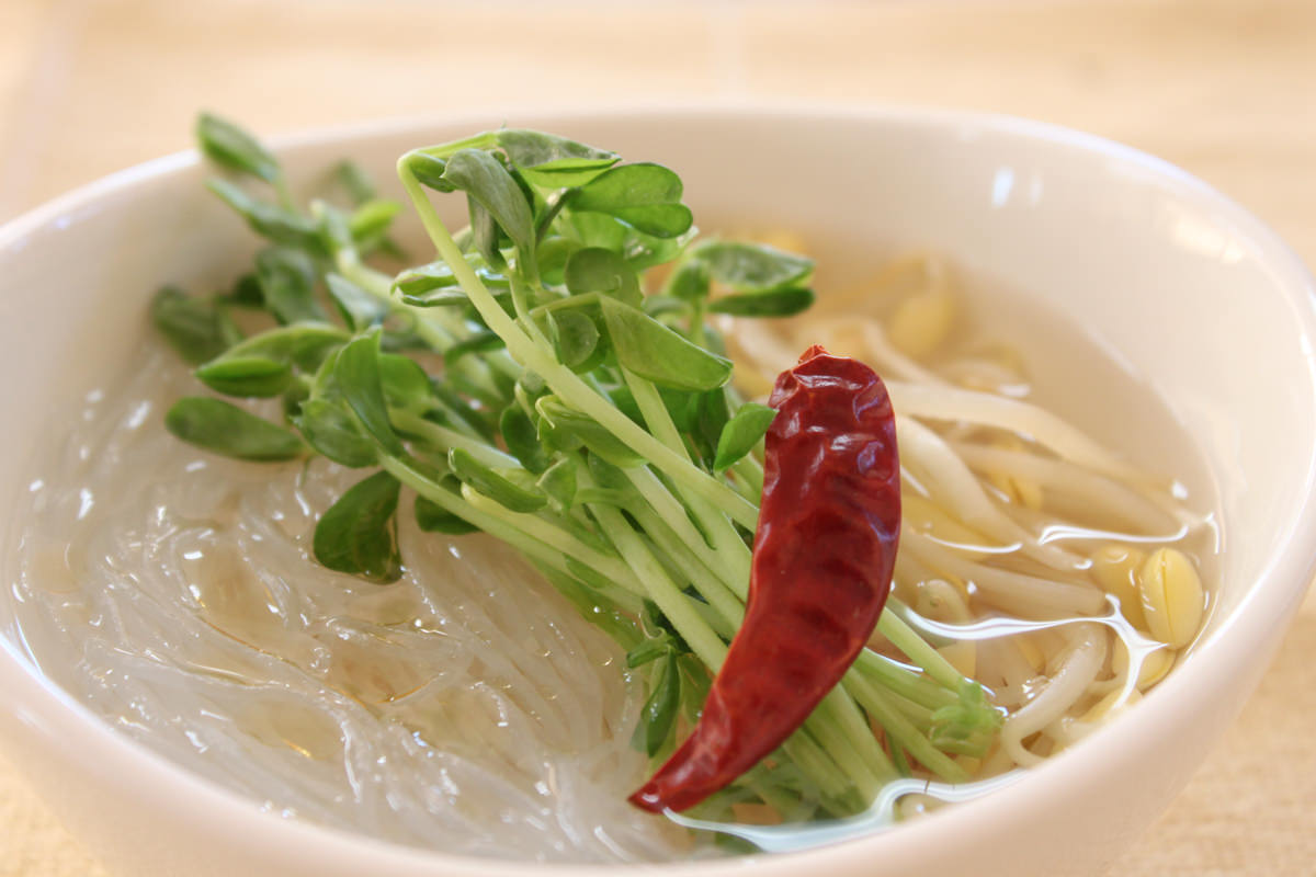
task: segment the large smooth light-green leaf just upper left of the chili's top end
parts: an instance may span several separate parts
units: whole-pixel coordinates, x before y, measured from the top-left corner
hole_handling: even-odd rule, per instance
[[[646,314],[612,298],[599,302],[608,339],[625,368],[674,389],[715,389],[732,376],[729,359],[692,344]]]

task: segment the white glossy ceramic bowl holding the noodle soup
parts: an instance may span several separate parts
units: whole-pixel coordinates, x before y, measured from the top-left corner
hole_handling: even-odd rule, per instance
[[[180,120],[186,124],[187,120]],[[295,184],[350,154],[399,154],[504,121],[671,164],[704,225],[755,218],[949,254],[1046,297],[1144,376],[1200,444],[1219,492],[1223,582],[1207,636],[1150,697],[994,795],[895,831],[765,856],[758,877],[1087,874],[1165,807],[1265,671],[1316,557],[1313,283],[1245,210],[1182,171],[1012,118],[888,109],[490,114],[288,141]],[[0,229],[0,496],[16,497],[57,402],[113,373],[162,281],[229,276],[253,243],[192,153],[124,171]],[[869,256],[871,254],[863,254]],[[22,521],[0,508],[9,552]],[[0,630],[12,607],[0,600]],[[112,870],[390,877],[544,874],[288,822],[116,734],[0,638],[0,739]],[[745,860],[658,868],[742,873]],[[571,873],[584,870],[570,868]],[[608,873],[616,870],[608,869]],[[603,873],[603,872],[600,872]]]

